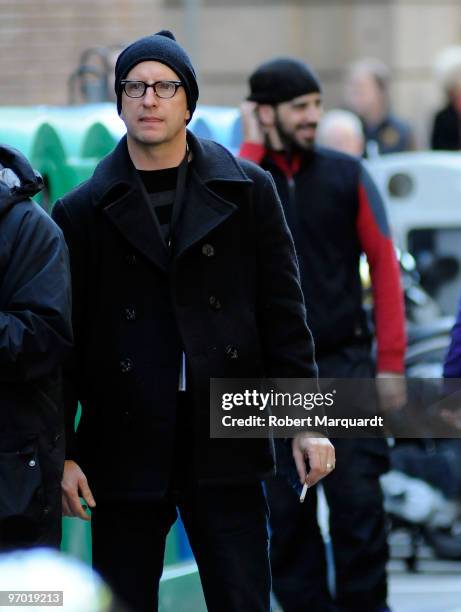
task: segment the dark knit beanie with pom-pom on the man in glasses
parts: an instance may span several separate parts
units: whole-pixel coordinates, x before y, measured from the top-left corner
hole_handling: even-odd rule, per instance
[[[137,64],[152,60],[165,64],[176,72],[184,86],[187,106],[192,117],[199,93],[197,77],[189,56],[178,45],[174,35],[169,30],[161,30],[151,36],[135,40],[118,56],[117,63],[115,64],[115,93],[117,95],[118,114],[120,115],[122,111],[122,88],[120,81]]]

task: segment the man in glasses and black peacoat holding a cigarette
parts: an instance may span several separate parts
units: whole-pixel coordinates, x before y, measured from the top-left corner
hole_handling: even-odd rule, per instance
[[[165,537],[185,524],[211,611],[267,611],[267,439],[210,438],[211,378],[314,377],[294,245],[269,175],[186,131],[195,72],[171,32],[115,68],[127,135],[53,217],[71,256],[64,511],[93,508],[93,564],[153,610]],[[82,417],[76,433],[77,400]],[[334,467],[300,434],[301,481]]]

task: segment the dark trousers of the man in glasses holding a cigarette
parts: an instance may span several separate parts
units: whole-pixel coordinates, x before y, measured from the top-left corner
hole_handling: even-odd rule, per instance
[[[93,566],[133,612],[158,608],[165,538],[178,508],[210,612],[270,609],[267,504],[261,483],[172,490],[152,503],[93,511]]]

